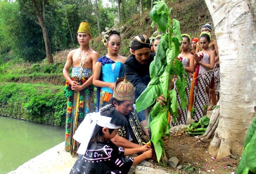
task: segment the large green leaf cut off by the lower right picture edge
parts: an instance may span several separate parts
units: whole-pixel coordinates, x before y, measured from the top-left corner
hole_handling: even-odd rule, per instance
[[[247,146],[246,166],[250,171],[256,173],[256,131]]]

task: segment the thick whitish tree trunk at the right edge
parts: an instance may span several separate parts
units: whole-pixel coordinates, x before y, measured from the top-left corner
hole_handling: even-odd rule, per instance
[[[220,55],[220,116],[209,152],[217,158],[241,155],[247,129],[256,115],[256,2],[205,2]]]

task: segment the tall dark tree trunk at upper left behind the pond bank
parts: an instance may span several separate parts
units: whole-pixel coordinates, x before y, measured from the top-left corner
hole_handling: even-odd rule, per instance
[[[33,2],[33,5],[34,5],[34,11],[35,11],[36,17],[38,19],[39,25],[41,26],[42,31],[43,31],[47,62],[53,63],[50,39],[49,39],[49,36],[48,36],[48,31],[47,31],[46,24],[45,24],[45,0],[40,0],[39,6],[36,3],[36,0],[32,0],[32,2]]]

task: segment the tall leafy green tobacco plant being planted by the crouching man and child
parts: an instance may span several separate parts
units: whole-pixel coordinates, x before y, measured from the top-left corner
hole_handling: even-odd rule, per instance
[[[162,31],[164,34],[161,35],[156,56],[149,67],[151,81],[136,100],[136,108],[139,112],[154,104],[149,113],[148,124],[151,142],[154,145],[157,161],[160,162],[162,154],[166,160],[162,137],[170,137],[168,113],[175,122],[178,116],[177,93],[175,89],[169,89],[169,85],[176,77],[175,86],[181,99],[181,109],[185,109],[187,105],[185,88],[188,82],[183,65],[175,59],[180,53],[180,42],[182,42],[180,23],[176,19],[170,19],[172,8],[168,8],[164,2],[158,1],[154,4],[149,13],[153,21],[151,26],[158,24],[159,30],[156,32]],[[156,103],[157,97],[162,94],[165,97],[165,105]]]

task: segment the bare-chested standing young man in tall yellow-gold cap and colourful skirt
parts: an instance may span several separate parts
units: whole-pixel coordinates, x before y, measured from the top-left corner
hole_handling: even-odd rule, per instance
[[[87,22],[81,22],[77,32],[80,47],[70,51],[63,68],[63,76],[66,79],[65,96],[68,98],[65,150],[71,155],[76,154],[79,145],[73,139],[73,134],[84,120],[85,115],[93,112],[94,107],[92,73],[99,55],[89,46],[91,38],[90,25]],[[68,70],[72,65],[70,77]]]

